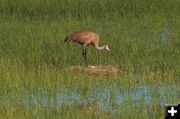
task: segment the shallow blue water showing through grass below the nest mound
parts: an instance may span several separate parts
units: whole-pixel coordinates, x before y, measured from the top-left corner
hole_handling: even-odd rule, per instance
[[[30,93],[24,91],[21,97],[1,96],[1,105],[16,105],[33,108],[40,105],[44,108],[63,106],[95,105],[102,111],[122,111],[121,105],[131,105],[134,108],[142,104],[152,103],[167,104],[169,101],[178,100],[176,85],[154,87],[148,85],[135,85],[129,89],[112,87],[108,84],[96,84],[91,88],[72,87],[57,92],[48,93],[36,91]],[[131,104],[129,104],[131,103]]]

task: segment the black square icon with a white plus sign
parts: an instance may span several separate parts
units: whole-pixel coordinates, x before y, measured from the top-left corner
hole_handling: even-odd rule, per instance
[[[165,107],[165,119],[180,119],[180,104],[178,105],[166,105]]]

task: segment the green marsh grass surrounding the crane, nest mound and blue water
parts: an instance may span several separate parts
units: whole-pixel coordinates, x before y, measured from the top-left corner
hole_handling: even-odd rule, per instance
[[[153,89],[169,84],[180,91],[179,26],[179,0],[1,0],[0,118],[164,118],[164,104],[180,102],[179,95],[159,104],[158,91]],[[112,46],[111,52],[89,47],[90,64],[118,66],[118,75],[65,70],[84,65],[81,46],[63,43],[70,31],[82,29],[97,32],[100,44]],[[92,109],[87,105],[27,108],[23,104],[3,104],[4,97],[15,97],[20,103],[23,91],[54,95],[79,86],[85,95],[94,84],[104,82],[112,90],[120,87],[130,92],[137,84],[148,84],[153,101],[139,105],[150,105],[153,111],[128,112],[128,107],[135,105],[131,100],[114,106],[122,107],[125,113],[99,111],[93,104]]]

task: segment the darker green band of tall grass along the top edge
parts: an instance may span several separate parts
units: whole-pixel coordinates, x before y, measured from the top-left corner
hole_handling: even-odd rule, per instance
[[[28,17],[50,16],[84,18],[178,14],[178,0],[1,0],[2,14]],[[172,14],[173,13],[173,14]],[[139,16],[140,15],[140,16]],[[118,17],[117,17],[118,16]]]

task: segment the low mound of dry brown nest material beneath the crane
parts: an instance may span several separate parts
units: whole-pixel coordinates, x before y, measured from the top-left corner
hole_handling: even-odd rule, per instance
[[[86,72],[90,74],[117,74],[119,68],[112,65],[96,65],[96,66],[70,66],[68,70],[73,72]]]

